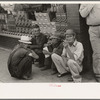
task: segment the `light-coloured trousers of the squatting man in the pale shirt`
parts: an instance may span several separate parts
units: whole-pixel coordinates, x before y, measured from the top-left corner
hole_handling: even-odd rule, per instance
[[[82,78],[80,76],[80,72],[82,71],[82,66],[80,66],[76,61],[69,59],[67,61],[67,65],[65,65],[65,62],[63,61],[62,57],[57,54],[52,54],[52,60],[54,64],[56,65],[56,68],[60,74],[71,72],[72,78],[74,82],[81,82]]]

